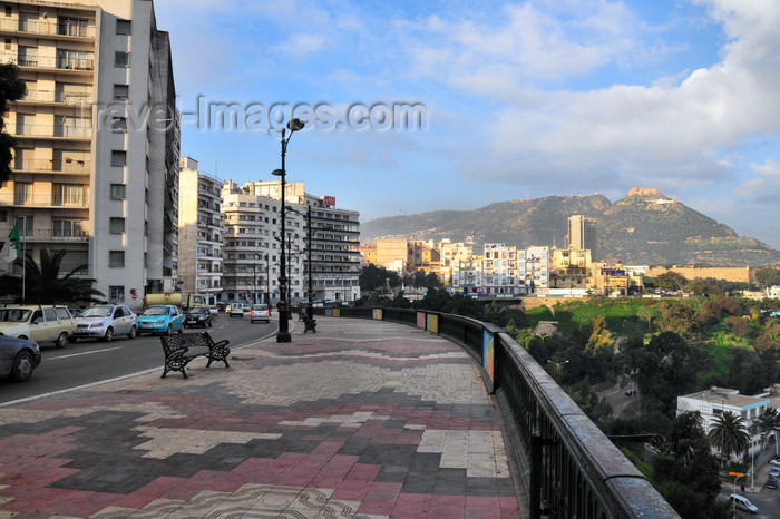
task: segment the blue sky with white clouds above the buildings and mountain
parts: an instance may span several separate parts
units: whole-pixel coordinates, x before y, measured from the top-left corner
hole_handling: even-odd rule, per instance
[[[182,155],[220,179],[277,178],[279,130],[298,117],[287,182],[361,222],[653,187],[780,248],[777,0],[155,10],[170,33]]]

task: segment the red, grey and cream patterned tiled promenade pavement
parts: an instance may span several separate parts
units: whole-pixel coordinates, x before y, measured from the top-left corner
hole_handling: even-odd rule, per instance
[[[0,518],[519,518],[474,361],[410,326],[318,317],[191,363],[0,408]],[[218,337],[217,337],[218,339]]]

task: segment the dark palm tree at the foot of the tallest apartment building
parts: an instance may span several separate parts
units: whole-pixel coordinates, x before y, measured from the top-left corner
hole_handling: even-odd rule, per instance
[[[25,268],[25,302],[33,304],[72,303],[75,301],[97,301],[94,296],[104,295],[92,288],[95,280],[79,277],[78,273],[85,271],[87,265],[79,265],[68,273],[60,273],[62,258],[67,251],[58,251],[49,254],[42,248],[40,264],[36,263],[31,253],[27,253],[22,262],[17,257],[16,265]],[[19,276],[4,276],[0,284],[7,293],[21,296],[21,278]]]

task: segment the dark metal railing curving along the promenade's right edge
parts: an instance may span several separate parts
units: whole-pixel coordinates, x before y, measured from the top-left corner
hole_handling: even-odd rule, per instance
[[[464,347],[503,411],[507,454],[532,518],[680,517],[552,376],[504,330],[460,315],[404,309],[319,314],[418,326]]]

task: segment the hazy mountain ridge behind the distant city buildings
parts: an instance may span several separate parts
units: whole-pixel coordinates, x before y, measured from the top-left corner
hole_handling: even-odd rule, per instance
[[[754,238],[741,237],[675,198],[655,189],[631,189],[610,202],[603,195],[546,196],[496,202],[475,210],[437,210],[390,216],[361,225],[361,242],[378,237],[471,239],[475,252],[485,243],[527,247],[564,247],[568,217],[596,219],[597,256],[625,264],[772,265],[780,252]]]

